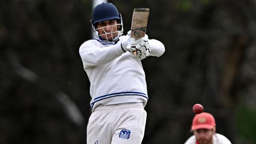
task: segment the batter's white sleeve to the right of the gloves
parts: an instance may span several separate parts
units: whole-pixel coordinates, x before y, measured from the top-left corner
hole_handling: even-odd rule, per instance
[[[162,42],[155,39],[148,39],[148,44],[150,46],[151,56],[160,57],[165,52],[165,46]]]

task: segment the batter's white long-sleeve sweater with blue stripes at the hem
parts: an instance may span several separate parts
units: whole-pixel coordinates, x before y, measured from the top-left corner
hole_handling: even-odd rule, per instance
[[[147,104],[147,84],[141,61],[135,61],[129,52],[121,49],[118,42],[100,42],[97,39],[84,42],[79,49],[83,68],[87,73],[91,102],[94,111],[99,104],[143,102]],[[160,57],[165,52],[164,45],[155,39],[148,39],[150,55]]]

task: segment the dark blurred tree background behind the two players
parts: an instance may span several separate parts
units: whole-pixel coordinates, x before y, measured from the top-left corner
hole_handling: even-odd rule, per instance
[[[213,114],[233,144],[256,143],[255,0],[109,0],[130,29],[165,53],[142,61],[148,84],[143,144],[182,144],[192,107]],[[85,144],[89,80],[78,49],[91,39],[90,0],[0,1],[0,144]]]

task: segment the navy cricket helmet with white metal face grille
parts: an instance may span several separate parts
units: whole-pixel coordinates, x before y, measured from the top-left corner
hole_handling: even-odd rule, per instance
[[[108,39],[107,35],[110,33],[106,33],[106,31],[104,30],[104,28],[106,28],[106,27],[102,28],[104,31],[104,34],[102,34],[102,35],[99,35],[99,33],[98,33],[98,30],[100,28],[96,28],[96,26],[99,22],[104,22],[107,20],[117,20],[117,23],[118,23],[113,26],[108,26],[111,28],[112,39]],[[91,25],[92,25],[92,28],[93,28],[96,38],[102,42],[106,42],[106,41],[107,42],[115,42],[115,41],[119,40],[119,37],[122,35],[122,32],[123,32],[122,16],[121,16],[121,14],[119,14],[117,8],[111,3],[102,3],[102,4],[97,5],[93,9]],[[117,26],[117,31],[113,31],[114,26]],[[115,35],[115,33],[117,33],[117,35],[113,36],[113,34]],[[103,35],[106,35],[106,39],[102,38]]]

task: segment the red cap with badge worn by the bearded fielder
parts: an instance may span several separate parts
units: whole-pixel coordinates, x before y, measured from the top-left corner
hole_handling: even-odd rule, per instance
[[[191,130],[212,129],[215,126],[215,119],[210,113],[200,113],[194,116]]]

